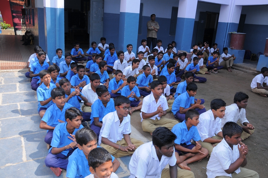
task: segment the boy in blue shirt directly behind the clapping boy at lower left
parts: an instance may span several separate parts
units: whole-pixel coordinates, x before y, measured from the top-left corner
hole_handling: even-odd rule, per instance
[[[62,88],[53,88],[51,91],[51,98],[54,104],[47,108],[42,120],[40,121],[39,128],[47,130],[45,142],[50,145],[53,131],[55,127],[62,122],[65,122],[65,111],[72,107],[66,103],[65,92]]]

